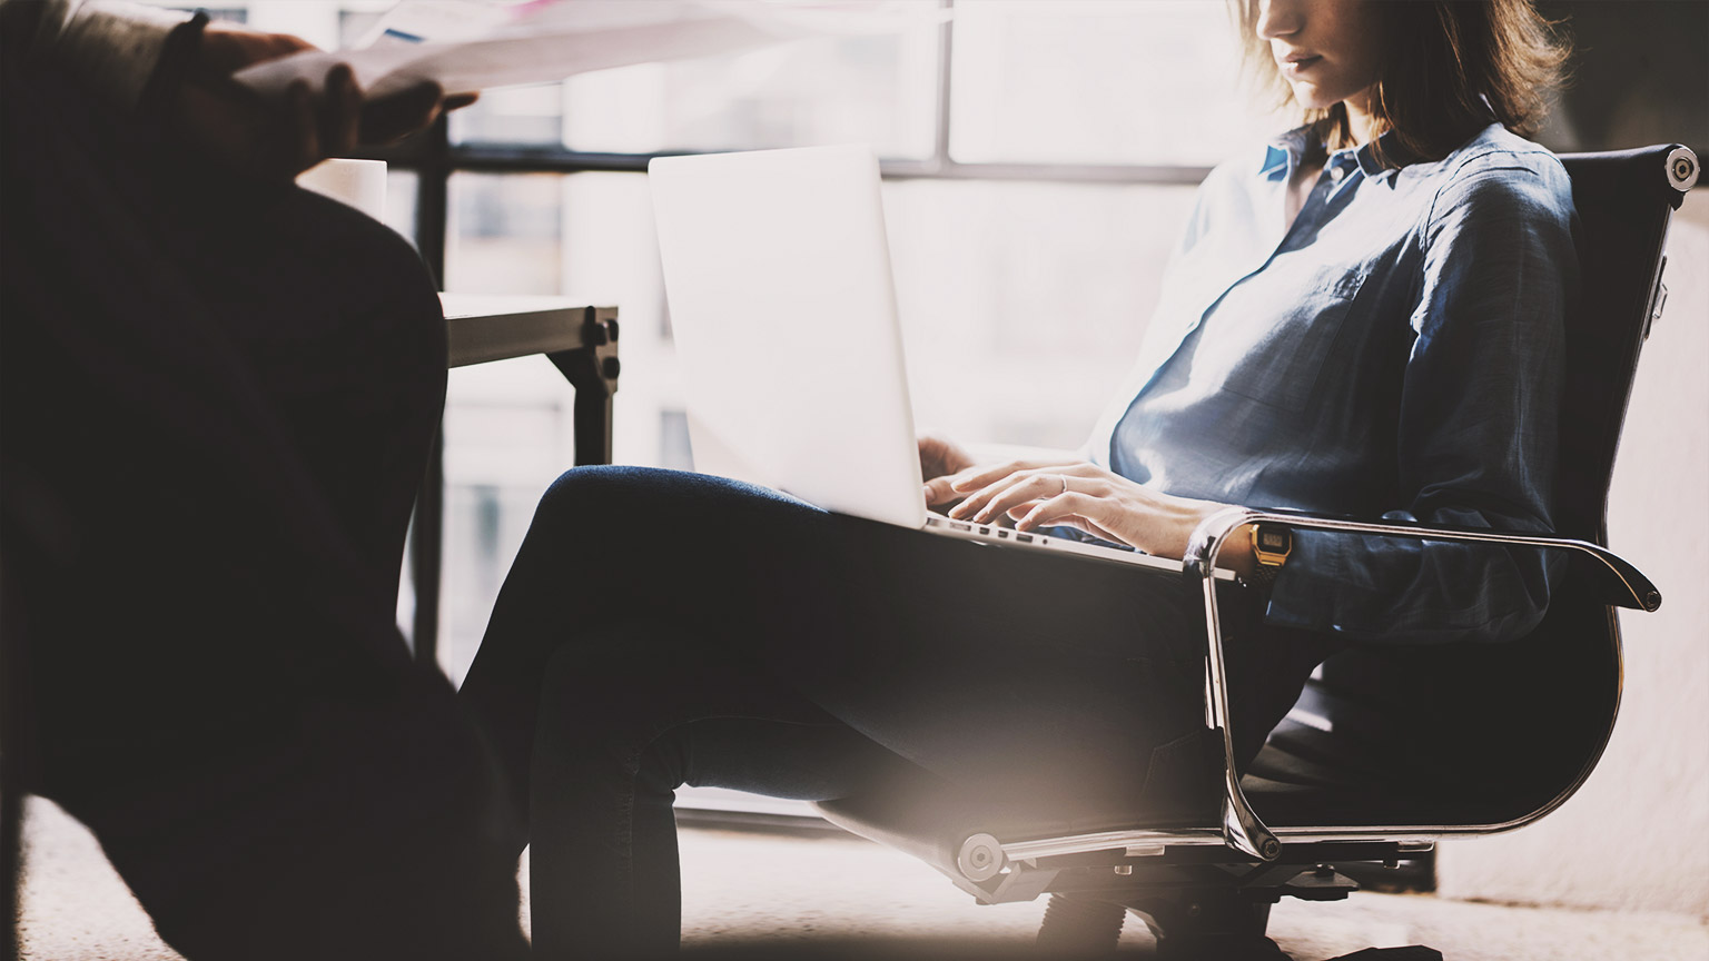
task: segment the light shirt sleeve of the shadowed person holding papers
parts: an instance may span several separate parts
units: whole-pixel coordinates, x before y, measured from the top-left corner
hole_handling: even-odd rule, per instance
[[[96,96],[135,109],[166,36],[186,19],[116,0],[50,0],[32,50],[70,67]]]

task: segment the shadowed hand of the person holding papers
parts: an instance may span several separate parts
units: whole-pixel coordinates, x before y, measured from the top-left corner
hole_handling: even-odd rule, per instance
[[[299,80],[287,87],[282,104],[263,101],[231,79],[244,67],[304,50],[314,46],[289,34],[208,24],[167,108],[173,127],[227,166],[265,180],[289,180],[359,144],[400,140],[443,111],[475,103],[475,94],[446,97],[432,82],[367,101],[342,63],[326,72],[318,96]]]

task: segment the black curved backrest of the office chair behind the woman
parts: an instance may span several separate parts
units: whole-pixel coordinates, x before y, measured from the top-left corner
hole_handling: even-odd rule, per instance
[[[1606,545],[1608,484],[1656,308],[1668,221],[1697,161],[1677,145],[1562,161],[1579,217],[1583,292],[1567,316],[1557,530]],[[1521,641],[1360,646],[1333,657],[1295,708],[1304,716],[1283,722],[1266,752],[1297,756],[1309,739],[1321,754],[1324,739],[1307,722],[1328,718],[1347,732],[1340,747],[1350,763],[1389,759],[1381,778],[1396,790],[1374,795],[1386,800],[1362,807],[1360,824],[1509,824],[1577,788],[1601,756],[1618,703],[1618,622],[1591,592],[1569,587],[1553,592],[1543,622]],[[1383,744],[1371,740],[1372,730]]]

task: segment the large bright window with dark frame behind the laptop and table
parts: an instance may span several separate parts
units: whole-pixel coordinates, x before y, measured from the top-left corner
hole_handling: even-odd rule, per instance
[[[234,3],[251,26],[323,46],[361,36],[386,5]],[[1266,125],[1237,87],[1222,3],[954,10],[950,27],[913,34],[489,91],[443,140],[391,157],[390,221],[446,289],[617,304],[615,458],[689,467],[648,159],[868,142],[887,176],[918,419],[1077,446],[1138,347],[1193,188]],[[533,504],[571,463],[573,400],[538,357],[451,373],[438,657],[455,681]]]

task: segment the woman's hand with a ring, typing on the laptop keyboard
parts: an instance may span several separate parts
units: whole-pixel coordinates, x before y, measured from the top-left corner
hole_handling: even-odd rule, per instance
[[[1010,465],[957,477],[962,503],[950,510],[957,520],[990,523],[1007,513],[1015,530],[1070,525],[1104,540],[1128,544],[1157,554],[1186,554],[1193,530],[1210,515],[1227,508],[1160,494],[1095,463],[1068,463],[1012,470]],[[1236,549],[1244,539],[1230,539]],[[1236,566],[1224,549],[1219,566]]]

